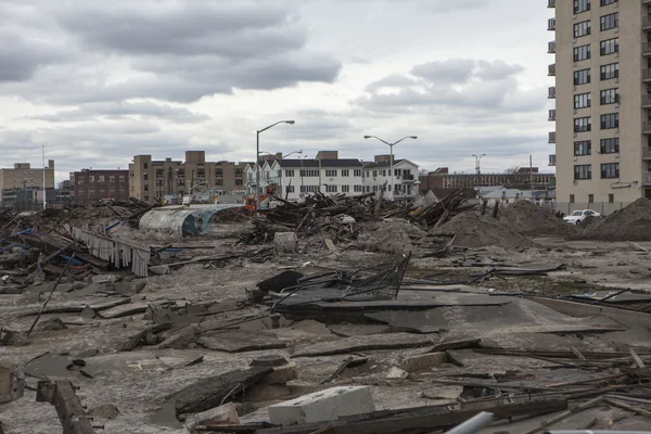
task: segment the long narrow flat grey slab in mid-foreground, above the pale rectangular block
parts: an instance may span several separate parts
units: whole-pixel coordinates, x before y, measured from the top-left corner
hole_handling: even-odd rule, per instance
[[[370,336],[347,337],[339,341],[299,346],[292,357],[330,356],[373,349],[418,348],[429,345],[432,345],[432,340],[419,334],[373,334]]]

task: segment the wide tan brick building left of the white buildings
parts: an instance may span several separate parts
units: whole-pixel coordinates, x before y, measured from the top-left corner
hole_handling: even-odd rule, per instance
[[[206,162],[205,151],[186,151],[186,162],[136,155],[129,164],[130,195],[153,202],[203,190],[244,190],[246,163]]]

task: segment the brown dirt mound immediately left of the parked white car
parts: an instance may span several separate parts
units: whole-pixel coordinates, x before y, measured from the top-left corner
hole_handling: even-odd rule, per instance
[[[500,220],[527,237],[566,237],[578,232],[574,226],[567,225],[562,218],[529,201],[518,201],[503,208]]]

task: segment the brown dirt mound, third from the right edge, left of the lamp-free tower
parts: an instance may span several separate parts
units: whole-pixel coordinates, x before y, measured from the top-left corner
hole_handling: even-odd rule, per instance
[[[496,245],[503,248],[520,248],[531,244],[526,237],[515,232],[509,224],[477,213],[462,213],[435,231],[438,234],[455,234],[455,245],[485,247]]]

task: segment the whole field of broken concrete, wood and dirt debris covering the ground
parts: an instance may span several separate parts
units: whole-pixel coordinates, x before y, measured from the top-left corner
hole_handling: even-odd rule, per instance
[[[317,194],[187,237],[138,201],[2,213],[2,431],[648,430],[651,202],[584,228],[468,200]]]

